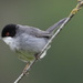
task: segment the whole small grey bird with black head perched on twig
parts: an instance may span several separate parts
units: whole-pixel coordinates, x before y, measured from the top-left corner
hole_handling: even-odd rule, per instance
[[[51,39],[55,29],[61,25],[65,19],[60,20],[45,31],[30,25],[10,23],[3,27],[1,40],[6,42],[13,52],[18,53],[17,55],[21,61],[27,63],[32,62]],[[46,52],[44,55],[45,54]],[[44,58],[44,55],[40,59]]]

